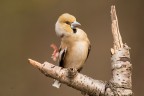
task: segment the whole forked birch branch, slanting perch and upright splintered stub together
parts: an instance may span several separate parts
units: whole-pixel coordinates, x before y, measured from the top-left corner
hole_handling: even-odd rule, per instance
[[[122,42],[115,6],[111,6],[111,20],[114,45],[111,48],[112,78],[110,81],[94,80],[78,72],[70,78],[69,73],[73,73],[73,70],[55,66],[48,62],[41,64],[29,59],[30,64],[38,68],[44,75],[57,79],[61,83],[90,96],[132,96],[130,48]]]

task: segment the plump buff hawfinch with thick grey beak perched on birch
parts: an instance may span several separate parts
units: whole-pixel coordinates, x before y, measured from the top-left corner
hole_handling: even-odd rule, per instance
[[[64,13],[55,24],[55,32],[61,39],[58,62],[63,68],[74,68],[80,72],[89,56],[91,44],[87,34],[80,29],[81,24],[76,18]],[[53,85],[60,88],[61,83],[55,80]]]

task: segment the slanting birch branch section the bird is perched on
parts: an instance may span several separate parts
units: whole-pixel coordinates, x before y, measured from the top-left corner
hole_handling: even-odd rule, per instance
[[[104,94],[106,83],[100,80],[94,80],[86,75],[77,73],[73,78],[69,78],[69,70],[59,66],[55,66],[48,62],[43,64],[29,59],[30,64],[38,68],[43,74],[48,77],[59,80],[61,83],[67,84],[81,92],[87,93],[91,96],[99,96]]]

